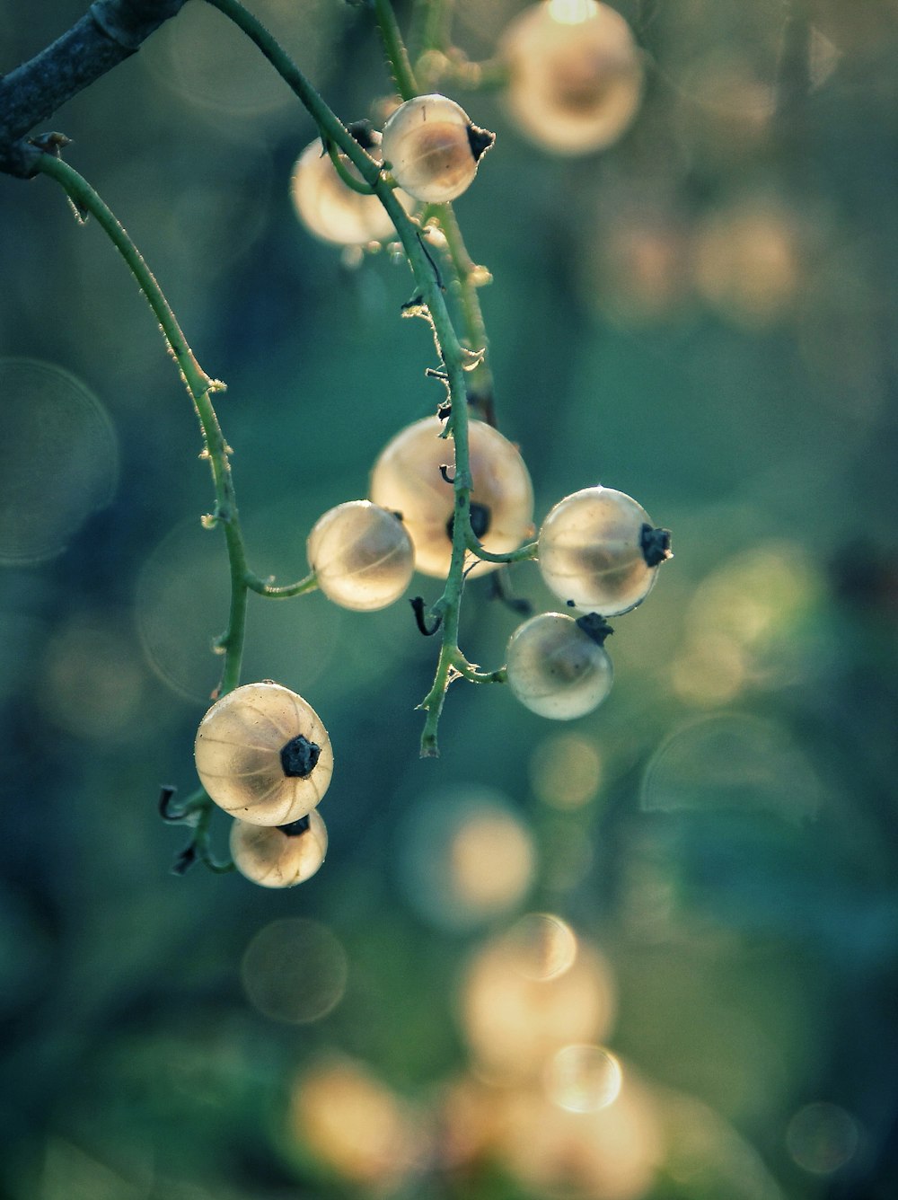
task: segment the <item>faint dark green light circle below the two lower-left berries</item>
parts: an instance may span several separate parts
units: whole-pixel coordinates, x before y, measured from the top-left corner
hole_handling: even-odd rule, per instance
[[[240,965],[249,1002],[265,1016],[291,1025],[318,1021],[346,988],[346,954],[326,925],[285,918],[253,937]]]

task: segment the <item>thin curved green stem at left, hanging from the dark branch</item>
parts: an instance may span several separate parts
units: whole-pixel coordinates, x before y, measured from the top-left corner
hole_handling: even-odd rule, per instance
[[[240,529],[237,502],[231,481],[228,461],[228,444],[224,440],[218,416],[212,404],[212,392],[222,391],[223,384],[206,374],[197,361],[193,350],[177,324],[171,306],[156,281],[125,227],[115,217],[106,202],[97,194],[78,172],[61,158],[44,154],[38,163],[42,174],[54,179],[66,192],[78,212],[94,216],[125,259],[138,287],[156,314],[162,335],[181,371],[181,377],[193,401],[193,406],[203,431],[204,454],[209,458],[215,484],[215,511],[209,524],[221,523],[224,528],[224,540],[228,547],[230,565],[230,608],[228,628],[217,640],[217,648],[224,654],[219,692],[224,695],[240,683],[240,665],[243,655],[243,636],[246,629],[246,551]]]

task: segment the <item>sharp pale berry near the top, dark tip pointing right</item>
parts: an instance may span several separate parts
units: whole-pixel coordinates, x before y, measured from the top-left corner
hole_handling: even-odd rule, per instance
[[[470,187],[494,138],[446,96],[406,100],[384,126],[384,162],[409,196],[428,204],[454,200]]]

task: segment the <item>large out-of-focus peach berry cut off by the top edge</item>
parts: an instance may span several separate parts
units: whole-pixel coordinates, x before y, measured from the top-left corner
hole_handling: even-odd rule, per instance
[[[506,100],[522,132],[544,150],[602,150],[639,108],[643,66],[626,20],[596,0],[546,0],[502,35]]]

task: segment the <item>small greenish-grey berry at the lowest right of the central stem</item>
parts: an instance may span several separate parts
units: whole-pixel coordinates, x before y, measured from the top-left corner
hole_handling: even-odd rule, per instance
[[[591,713],[613,678],[607,652],[565,613],[531,617],[508,642],[508,686],[540,716],[569,721]]]

